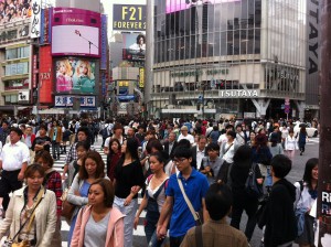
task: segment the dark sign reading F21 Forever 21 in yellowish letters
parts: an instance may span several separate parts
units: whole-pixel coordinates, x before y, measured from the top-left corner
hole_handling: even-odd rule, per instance
[[[114,4],[113,30],[145,31],[146,6]]]

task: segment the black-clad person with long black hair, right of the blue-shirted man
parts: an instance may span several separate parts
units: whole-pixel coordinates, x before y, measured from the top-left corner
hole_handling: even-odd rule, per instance
[[[231,225],[239,229],[243,211],[246,212],[248,221],[245,228],[245,235],[250,240],[256,225],[256,212],[258,207],[258,197],[249,195],[245,190],[245,183],[248,178],[249,170],[253,165],[252,149],[248,146],[241,146],[233,157],[233,165],[231,169],[233,206]],[[255,165],[255,174],[257,182],[263,183],[263,178],[258,165]]]

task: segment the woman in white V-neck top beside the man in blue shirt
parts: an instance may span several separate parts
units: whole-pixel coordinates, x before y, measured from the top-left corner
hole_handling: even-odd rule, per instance
[[[145,233],[148,246],[159,247],[162,245],[163,239],[157,238],[157,223],[160,217],[160,212],[166,201],[166,189],[168,185],[169,176],[164,173],[164,158],[161,152],[153,152],[149,158],[150,170],[152,174],[146,180],[146,193],[139,210],[135,217],[135,228],[139,222],[141,212],[146,208],[146,225]]]

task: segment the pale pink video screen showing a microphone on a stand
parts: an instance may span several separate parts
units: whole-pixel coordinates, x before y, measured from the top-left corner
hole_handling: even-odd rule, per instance
[[[52,32],[52,55],[99,56],[99,29],[85,25],[56,25]]]

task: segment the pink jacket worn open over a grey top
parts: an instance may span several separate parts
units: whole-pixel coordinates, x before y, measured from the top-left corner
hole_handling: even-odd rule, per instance
[[[84,246],[85,226],[88,222],[90,213],[92,206],[87,206],[79,211],[71,243],[72,247]],[[125,215],[116,207],[110,210],[105,247],[124,247],[124,217]]]

